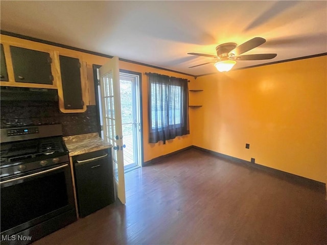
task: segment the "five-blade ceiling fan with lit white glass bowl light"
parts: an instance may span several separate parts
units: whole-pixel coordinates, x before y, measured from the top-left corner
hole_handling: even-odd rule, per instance
[[[189,68],[197,67],[200,65],[206,65],[216,63],[215,66],[219,71],[228,71],[233,65],[236,64],[237,60],[269,60],[277,56],[277,54],[253,54],[253,55],[242,55],[243,53],[252,50],[255,47],[265,43],[266,39],[262,37],[254,37],[241,45],[237,45],[234,42],[227,42],[220,44],[216,47],[217,55],[199,54],[199,53],[188,53],[188,55],[198,55],[210,58],[215,58],[215,61],[194,65]]]

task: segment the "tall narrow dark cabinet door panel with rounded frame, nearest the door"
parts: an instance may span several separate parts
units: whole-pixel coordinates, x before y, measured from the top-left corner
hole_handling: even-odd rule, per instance
[[[79,59],[59,55],[65,109],[83,109],[81,63]]]

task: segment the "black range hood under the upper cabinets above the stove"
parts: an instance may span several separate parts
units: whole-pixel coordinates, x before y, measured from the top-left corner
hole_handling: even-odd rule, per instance
[[[0,87],[1,101],[58,101],[58,90],[49,88]]]

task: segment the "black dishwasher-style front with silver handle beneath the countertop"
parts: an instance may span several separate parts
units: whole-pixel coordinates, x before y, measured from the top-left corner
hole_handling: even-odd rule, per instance
[[[73,157],[80,217],[114,202],[111,149]]]

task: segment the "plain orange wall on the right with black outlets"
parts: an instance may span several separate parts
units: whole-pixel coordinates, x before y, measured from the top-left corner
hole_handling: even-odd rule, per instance
[[[326,183],[326,82],[327,56],[199,77],[193,144]]]

